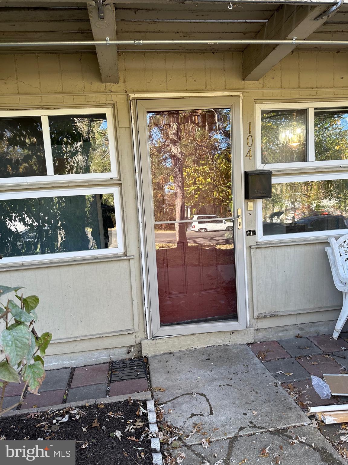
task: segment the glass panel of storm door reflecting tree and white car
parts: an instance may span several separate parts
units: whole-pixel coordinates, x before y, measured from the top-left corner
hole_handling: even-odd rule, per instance
[[[231,110],[147,112],[147,126],[160,324],[237,319]]]

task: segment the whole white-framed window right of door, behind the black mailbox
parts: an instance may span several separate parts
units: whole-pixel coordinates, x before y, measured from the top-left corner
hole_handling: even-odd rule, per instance
[[[258,168],[273,172],[258,238],[348,233],[348,104],[264,105],[258,115]]]

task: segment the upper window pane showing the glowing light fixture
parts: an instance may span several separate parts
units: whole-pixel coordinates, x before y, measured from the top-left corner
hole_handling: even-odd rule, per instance
[[[306,110],[261,112],[262,163],[306,161]]]

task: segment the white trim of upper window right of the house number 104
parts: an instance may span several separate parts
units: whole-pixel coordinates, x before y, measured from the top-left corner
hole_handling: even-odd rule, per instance
[[[309,110],[308,118],[308,156],[310,161],[299,161],[291,163],[262,163],[261,159],[261,111],[262,110]],[[326,168],[337,168],[341,166],[348,168],[348,160],[325,160],[315,161],[314,146],[314,109],[315,108],[348,108],[348,101],[330,101],[330,102],[284,102],[284,103],[259,103],[255,104],[255,127],[256,127],[256,164],[257,169],[268,169],[273,173],[284,173],[292,170],[319,171]]]

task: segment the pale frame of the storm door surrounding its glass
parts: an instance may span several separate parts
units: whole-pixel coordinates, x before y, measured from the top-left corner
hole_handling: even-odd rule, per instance
[[[157,292],[157,269],[155,256],[155,229],[152,204],[152,183],[150,154],[148,147],[147,112],[161,110],[183,110],[204,108],[231,108],[232,116],[232,193],[233,211],[242,209],[242,229],[235,228],[234,253],[236,266],[237,321],[217,321],[206,323],[189,323],[181,325],[160,325],[160,313]],[[248,325],[247,288],[246,288],[246,254],[244,221],[244,176],[243,176],[243,140],[242,140],[242,100],[240,96],[200,97],[181,99],[136,100],[133,107],[136,118],[133,124],[138,132],[136,172],[140,194],[139,212],[143,247],[143,274],[146,310],[149,318],[148,337],[164,337],[201,332],[235,331],[245,329]]]

